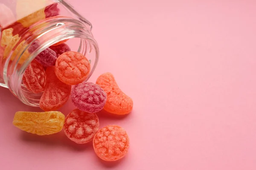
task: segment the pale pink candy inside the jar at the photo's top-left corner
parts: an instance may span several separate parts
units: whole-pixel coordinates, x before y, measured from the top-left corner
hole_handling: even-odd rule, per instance
[[[0,28],[5,28],[16,20],[12,10],[3,3],[0,3],[0,16]]]

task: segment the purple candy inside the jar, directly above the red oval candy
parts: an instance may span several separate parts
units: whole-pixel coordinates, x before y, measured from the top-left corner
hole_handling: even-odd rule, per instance
[[[35,60],[39,62],[44,67],[49,67],[55,65],[57,59],[56,53],[50,49],[46,48],[44,51],[42,51],[40,54],[38,54],[35,57]]]

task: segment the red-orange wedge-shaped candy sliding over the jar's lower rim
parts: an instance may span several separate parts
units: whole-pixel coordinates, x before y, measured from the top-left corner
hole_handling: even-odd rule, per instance
[[[44,111],[54,111],[61,108],[70,97],[71,85],[61,82],[54,73],[54,66],[46,69],[47,84],[41,96],[39,107]]]

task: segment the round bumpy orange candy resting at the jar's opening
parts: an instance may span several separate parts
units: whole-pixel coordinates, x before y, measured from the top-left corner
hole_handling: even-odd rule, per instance
[[[68,51],[61,54],[55,64],[55,74],[68,85],[83,82],[90,73],[90,63],[83,54]]]

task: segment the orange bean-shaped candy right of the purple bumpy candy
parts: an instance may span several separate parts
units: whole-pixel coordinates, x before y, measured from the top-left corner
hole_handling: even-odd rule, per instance
[[[116,80],[111,73],[105,73],[96,80],[107,94],[107,102],[104,110],[114,114],[128,114],[133,108],[132,99],[124,94],[118,87]]]

